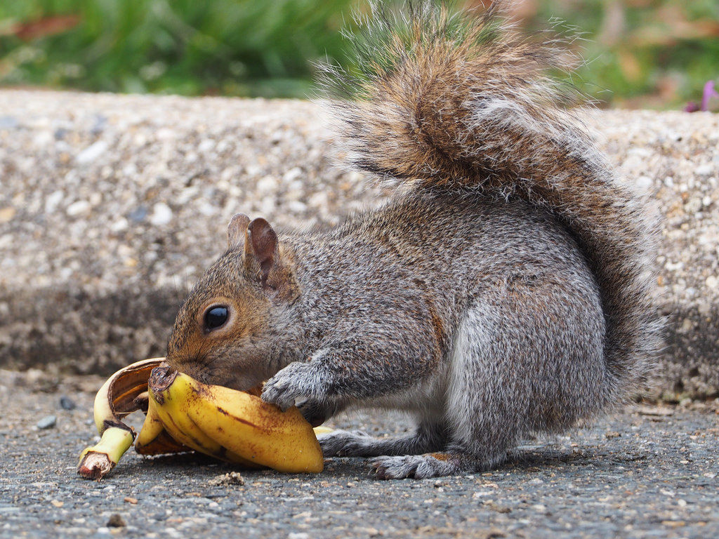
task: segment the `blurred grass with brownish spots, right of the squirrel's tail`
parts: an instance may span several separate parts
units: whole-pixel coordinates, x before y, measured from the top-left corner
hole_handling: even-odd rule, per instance
[[[577,81],[612,106],[677,108],[719,80],[719,0],[526,0],[526,27],[551,17],[585,34]]]

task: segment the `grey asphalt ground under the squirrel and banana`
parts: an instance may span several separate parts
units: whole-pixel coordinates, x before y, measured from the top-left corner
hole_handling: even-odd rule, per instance
[[[466,476],[386,482],[363,459],[280,474],[131,449],[94,482],[75,466],[94,440],[102,380],[58,379],[0,371],[0,538],[719,537],[717,401],[633,405]],[[38,428],[47,416],[55,425]],[[377,436],[411,428],[374,412],[332,426]]]

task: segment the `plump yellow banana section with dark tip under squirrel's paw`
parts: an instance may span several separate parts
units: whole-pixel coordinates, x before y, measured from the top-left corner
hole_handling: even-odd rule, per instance
[[[150,400],[173,438],[225,461],[319,472],[322,450],[296,407],[280,412],[256,395],[198,382],[169,367],[152,371]]]

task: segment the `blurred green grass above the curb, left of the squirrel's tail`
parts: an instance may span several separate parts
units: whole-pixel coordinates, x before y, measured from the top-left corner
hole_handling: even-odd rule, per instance
[[[348,0],[2,0],[0,83],[303,96]],[[75,22],[67,20],[76,17]]]

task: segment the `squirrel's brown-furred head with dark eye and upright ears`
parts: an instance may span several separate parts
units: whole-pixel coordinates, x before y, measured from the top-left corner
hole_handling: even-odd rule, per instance
[[[238,213],[229,248],[194,287],[168,343],[171,367],[201,382],[248,390],[272,376],[279,326],[299,291],[290,257],[265,219]]]

